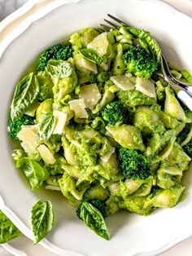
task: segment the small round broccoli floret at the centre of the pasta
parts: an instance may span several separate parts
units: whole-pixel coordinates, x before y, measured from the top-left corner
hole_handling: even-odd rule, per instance
[[[102,117],[111,126],[120,125],[127,122],[127,110],[120,101],[112,101],[103,108]]]

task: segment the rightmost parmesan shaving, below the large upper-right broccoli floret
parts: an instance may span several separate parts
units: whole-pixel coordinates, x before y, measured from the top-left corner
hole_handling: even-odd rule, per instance
[[[155,85],[153,82],[142,77],[136,78],[136,90],[141,91],[144,95],[155,98]]]

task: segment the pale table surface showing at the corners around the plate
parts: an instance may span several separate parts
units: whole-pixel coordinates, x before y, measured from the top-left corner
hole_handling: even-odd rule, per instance
[[[185,14],[192,17],[192,0],[164,0],[165,2],[171,3],[177,9],[183,11]],[[16,8],[20,7],[27,0],[0,0],[0,21],[9,15]],[[15,241],[10,243],[17,249],[24,251],[25,254],[30,256],[33,251],[33,255],[37,256],[55,256],[55,254],[50,253],[48,250],[41,247],[41,245],[33,245],[32,241],[28,238],[20,236]],[[0,247],[0,256],[11,256],[7,250]],[[192,236],[181,242],[181,244],[168,250],[168,252],[161,254],[161,256],[191,256],[192,255]],[[117,255],[118,256],[118,255]]]

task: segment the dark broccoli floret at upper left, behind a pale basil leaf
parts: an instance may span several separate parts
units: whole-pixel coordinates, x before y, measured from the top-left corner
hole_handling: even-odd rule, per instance
[[[61,44],[51,46],[50,48],[41,52],[37,64],[37,71],[43,71],[46,68],[46,65],[50,59],[68,60],[70,57],[72,57],[71,46],[62,46]]]

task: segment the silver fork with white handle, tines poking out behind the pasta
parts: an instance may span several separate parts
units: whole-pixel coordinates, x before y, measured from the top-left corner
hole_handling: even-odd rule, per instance
[[[123,20],[120,20],[111,14],[107,15],[111,18],[111,20],[116,21],[117,24],[111,22],[111,20],[104,19],[107,24],[100,25],[105,31],[109,31],[110,29],[120,29],[120,26],[129,27],[129,24],[125,23]],[[177,97],[181,99],[183,104],[185,104],[190,111],[192,111],[192,84],[188,82],[181,82],[172,76],[172,73],[168,68],[168,62],[162,53],[160,64],[162,73],[159,75],[164,78],[165,82],[168,82],[168,84],[170,84],[173,89],[177,91]]]

